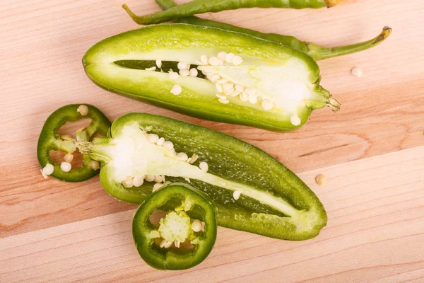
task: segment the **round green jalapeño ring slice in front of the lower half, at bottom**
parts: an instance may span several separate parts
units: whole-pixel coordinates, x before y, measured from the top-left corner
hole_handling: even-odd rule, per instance
[[[168,210],[159,226],[150,219],[155,209]],[[191,221],[192,214],[200,221]],[[185,270],[204,261],[215,244],[216,230],[213,202],[204,192],[181,183],[162,187],[147,197],[132,224],[141,258],[159,270]]]

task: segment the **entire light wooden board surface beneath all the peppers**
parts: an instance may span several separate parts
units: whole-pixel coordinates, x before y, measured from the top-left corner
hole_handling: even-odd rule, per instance
[[[305,127],[284,134],[197,120],[91,83],[81,65],[88,47],[138,27],[123,3],[0,1],[0,282],[424,282],[422,1],[204,15],[322,45],[393,28],[375,49],[319,62],[322,85],[342,110],[317,110]],[[153,0],[126,4],[141,14],[158,11]],[[353,67],[364,76],[352,76]],[[48,115],[69,103],[96,105],[111,120],[134,111],[167,115],[255,144],[300,173],[324,203],[329,225],[299,243],[220,229],[199,267],[155,271],[131,242],[136,206],[107,195],[98,178],[69,184],[41,177],[38,134]],[[318,173],[329,183],[317,187]]]

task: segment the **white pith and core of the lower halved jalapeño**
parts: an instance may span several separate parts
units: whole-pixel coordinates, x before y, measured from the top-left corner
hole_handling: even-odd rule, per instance
[[[186,180],[187,178],[196,179],[232,191],[235,200],[239,200],[240,197],[251,197],[278,210],[278,212],[282,212],[285,216],[296,219],[298,217],[303,218],[307,214],[307,212],[295,209],[281,197],[271,195],[269,192],[257,190],[254,187],[208,173],[206,162],[199,159],[198,162],[201,161],[199,166],[195,166],[190,163],[189,159],[185,159],[185,156],[188,156],[187,154],[184,154],[184,158],[179,157],[183,154],[176,153],[173,145],[170,146],[172,144],[170,141],[165,141],[163,137],[150,137],[152,137],[151,134],[140,129],[136,123],[126,124],[121,129],[119,137],[114,137],[107,145],[91,144],[89,151],[99,156],[105,156],[107,160],[105,163],[110,168],[110,178],[116,183],[123,184],[131,178],[133,180],[134,178],[147,180],[148,177],[148,181],[153,182],[155,176],[161,176],[162,182],[157,183],[159,187],[153,187],[153,190],[158,190],[163,185],[163,180],[168,176],[181,177]],[[168,142],[168,146],[165,147],[166,142]],[[196,154],[192,154],[192,156],[196,157]],[[126,185],[125,187],[129,186]],[[252,217],[254,216],[258,216],[258,214],[252,214]],[[310,219],[310,221],[314,223],[315,219]]]

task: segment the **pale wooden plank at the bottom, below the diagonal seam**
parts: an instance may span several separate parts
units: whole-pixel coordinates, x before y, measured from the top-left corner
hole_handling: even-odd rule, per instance
[[[423,282],[423,171],[420,146],[301,173],[329,214],[317,238],[220,228],[211,255],[180,272],[139,258],[132,209],[9,236],[0,241],[0,282]],[[317,173],[328,176],[324,187]]]

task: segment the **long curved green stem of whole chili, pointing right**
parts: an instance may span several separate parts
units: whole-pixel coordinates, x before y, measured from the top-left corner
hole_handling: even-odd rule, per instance
[[[367,40],[365,42],[355,43],[353,45],[345,45],[338,47],[323,47],[316,45],[312,42],[307,42],[307,54],[313,57],[316,60],[329,59],[333,57],[338,57],[346,54],[352,54],[355,52],[360,52],[363,50],[370,49],[379,45],[391,34],[391,28],[385,26],[382,30],[382,33],[377,35],[377,37],[372,38],[372,40]]]

